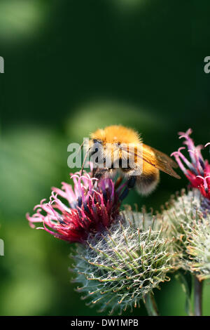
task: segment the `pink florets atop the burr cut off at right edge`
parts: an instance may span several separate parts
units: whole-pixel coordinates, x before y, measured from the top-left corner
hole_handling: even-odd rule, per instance
[[[180,132],[179,138],[184,138],[184,145],[188,147],[190,161],[183,155],[182,150],[186,147],[180,147],[178,151],[173,152],[179,167],[190,181],[190,186],[200,190],[202,195],[207,198],[206,204],[210,209],[210,164],[208,160],[204,160],[201,150],[202,145],[195,146],[193,140],[190,138],[192,130],[189,128],[186,133]],[[210,143],[207,143],[209,145]],[[184,163],[184,164],[183,164]]]

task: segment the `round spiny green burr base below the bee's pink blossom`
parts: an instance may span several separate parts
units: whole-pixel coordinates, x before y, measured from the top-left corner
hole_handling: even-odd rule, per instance
[[[99,305],[99,312],[139,307],[141,299],[169,281],[167,273],[174,269],[172,240],[166,228],[151,215],[121,212],[119,223],[109,232],[88,239],[88,246],[78,246],[73,256],[73,272],[85,293],[87,305]],[[138,227],[137,227],[138,224]]]

